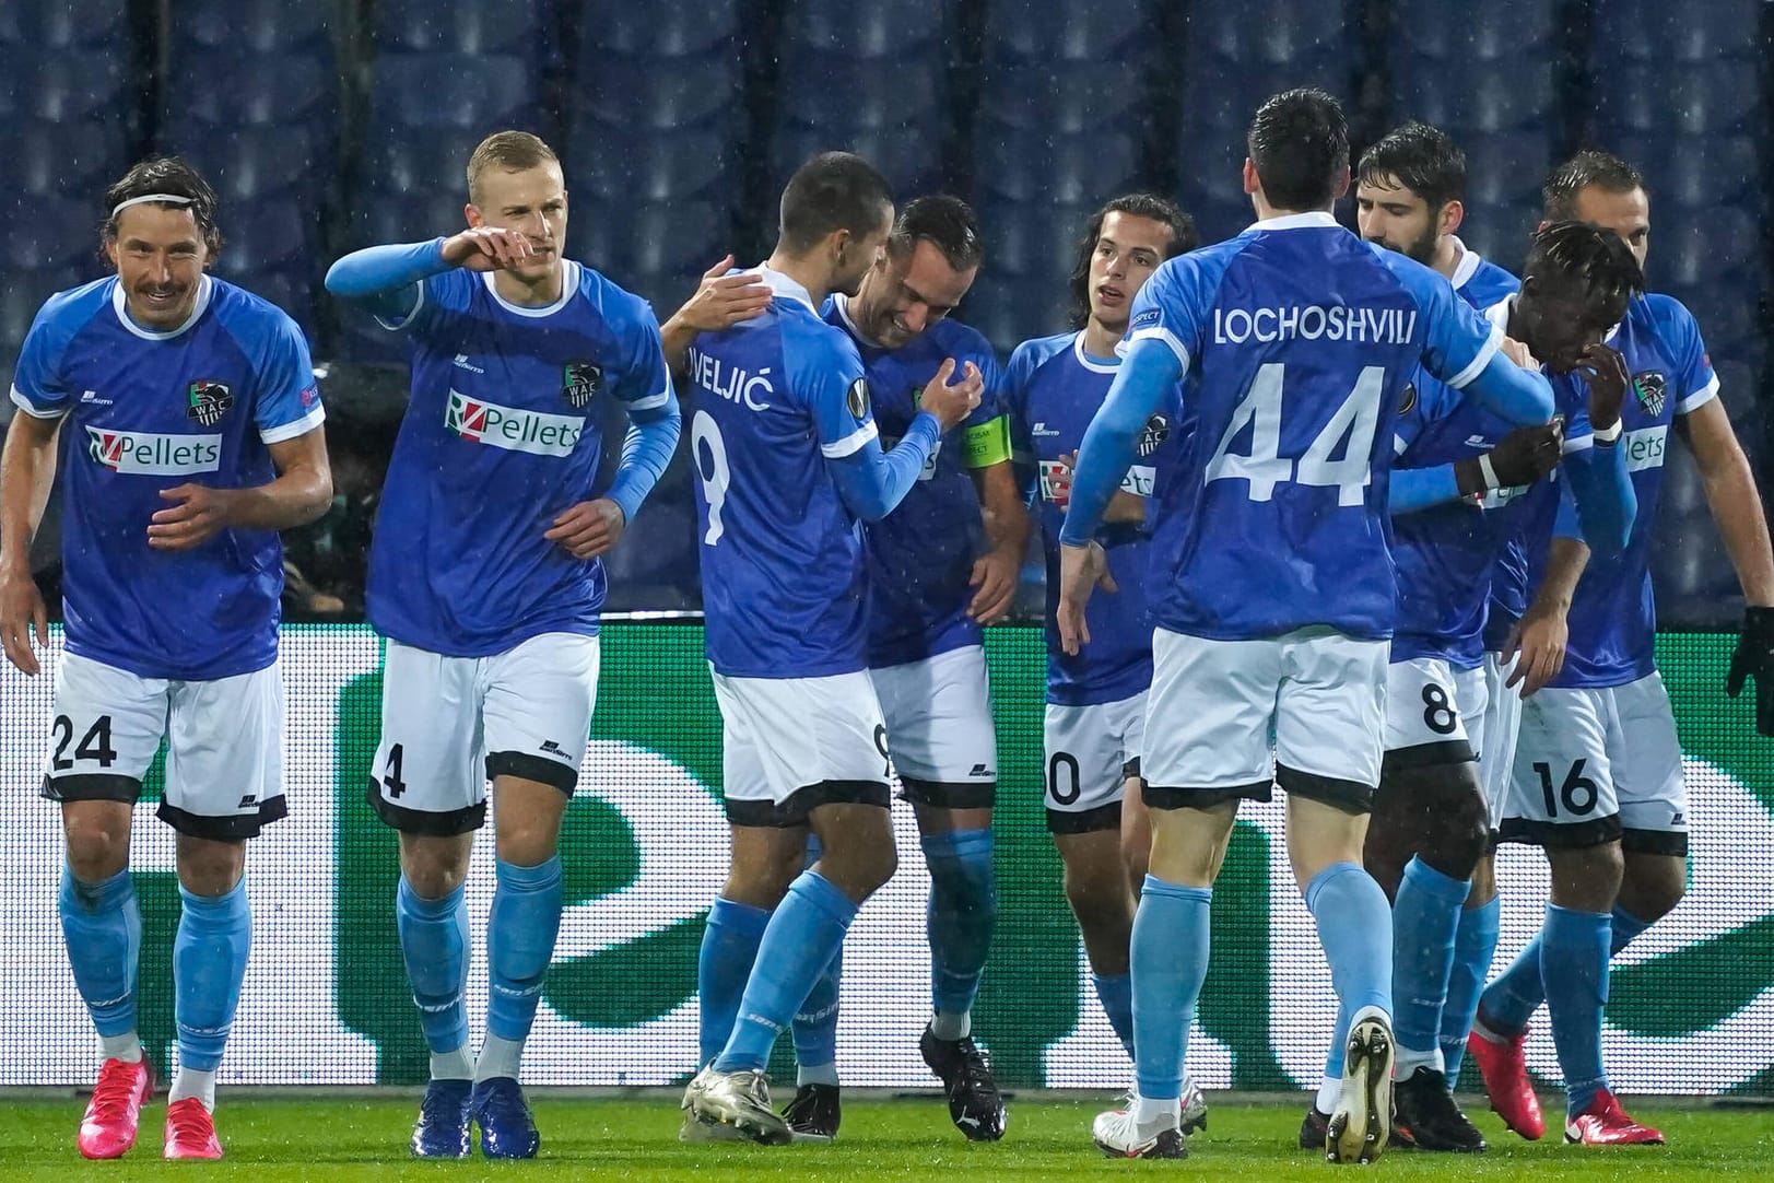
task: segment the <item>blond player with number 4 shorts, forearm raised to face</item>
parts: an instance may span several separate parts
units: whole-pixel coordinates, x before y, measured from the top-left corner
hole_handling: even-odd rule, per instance
[[[561,255],[561,163],[522,131],[468,160],[468,229],[346,255],[326,287],[412,341],[412,403],[369,553],[389,639],[369,800],[399,830],[396,921],[431,1048],[422,1156],[530,1158],[523,1041],[561,928],[561,819],[598,688],[600,555],[678,443],[658,323]],[[596,491],[600,401],[628,415]],[[463,878],[493,786],[486,1039],[468,1050]]]

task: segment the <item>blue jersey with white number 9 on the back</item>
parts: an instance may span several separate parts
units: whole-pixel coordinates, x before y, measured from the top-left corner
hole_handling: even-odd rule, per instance
[[[880,427],[857,346],[805,287],[759,275],[770,309],[690,348],[708,660],[731,678],[848,674],[866,667],[862,525],[827,459]]]

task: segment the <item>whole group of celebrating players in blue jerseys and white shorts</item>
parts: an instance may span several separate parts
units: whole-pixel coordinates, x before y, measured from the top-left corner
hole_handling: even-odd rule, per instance
[[[1552,1135],[1662,1142],[1614,1098],[1602,1027],[1611,958],[1687,883],[1648,569],[1671,435],[1749,605],[1721,676],[1733,697],[1753,683],[1765,736],[1774,555],[1701,326],[1646,282],[1632,163],[1561,163],[1519,254],[1481,259],[1456,234],[1467,172],[1446,133],[1403,124],[1352,160],[1338,103],[1286,90],[1224,177],[1249,229],[1205,245],[1169,199],[1103,193],[1077,227],[1070,328],[1029,325],[1008,358],[963,323],[992,227],[956,197],[894,193],[860,156],[800,165],[770,255],[715,262],[663,321],[562,255],[568,184],[543,140],[497,131],[463,167],[465,225],[326,273],[344,316],[410,351],[367,560],[385,690],[364,791],[397,835],[385,905],[429,1048],[412,1155],[543,1146],[520,1078],[575,858],[601,557],[646,546],[679,447],[729,834],[699,1057],[669,1066],[688,1080],[683,1140],[839,1137],[846,933],[898,869],[894,795],[930,874],[919,1055],[960,1135],[1017,1137],[972,1027],[997,912],[983,630],[1038,546],[1047,828],[1134,1062],[1080,1149],[1181,1158],[1205,1126],[1189,1039],[1213,883],[1240,802],[1277,789],[1338,1000],[1311,1032],[1302,1151],[1483,1151],[1451,1087],[1465,1057],[1510,1130],[1547,1135],[1522,1052],[1542,1004]],[[112,273],[39,310],[0,456],[0,642],[55,678],[53,727],[28,741],[66,837],[60,883],[20,890],[57,892],[99,1041],[80,1155],[130,1151],[170,1068],[165,1156],[220,1158],[247,848],[302,809],[284,796],[302,754],[284,747],[277,534],[332,500],[325,410],[302,330],[209,273],[225,211],[195,168],[145,160],[98,213]],[[51,670],[27,550],[57,481]],[[174,1066],[138,1032],[130,871],[163,743]],[[465,880],[488,825],[475,933]],[[1508,965],[1497,842],[1550,869],[1543,926]],[[784,1036],[797,1078],[772,1094]]]

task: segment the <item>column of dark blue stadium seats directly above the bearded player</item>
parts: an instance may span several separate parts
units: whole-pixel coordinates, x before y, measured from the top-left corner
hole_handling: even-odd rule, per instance
[[[1499,0],[1449,18],[1435,0],[1393,5],[1389,126],[1432,122],[1467,156],[1469,247],[1515,270],[1558,151],[1559,0]]]

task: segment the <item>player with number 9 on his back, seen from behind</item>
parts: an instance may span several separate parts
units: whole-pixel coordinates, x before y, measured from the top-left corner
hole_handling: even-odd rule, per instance
[[[855,294],[892,227],[880,174],[848,153],[782,192],[768,310],[688,349],[708,660],[724,731],[733,867],[703,942],[703,1045],[688,1121],[757,1142],[793,1137],[765,1061],[857,908],[896,866],[889,743],[867,676],[862,521],[907,497],[981,374],[944,360],[898,447],[882,450],[855,342],[820,319]],[[807,834],[818,860],[802,869]],[[743,993],[740,991],[743,986]]]

